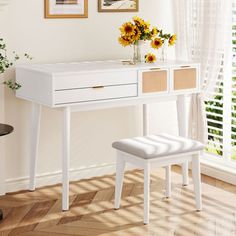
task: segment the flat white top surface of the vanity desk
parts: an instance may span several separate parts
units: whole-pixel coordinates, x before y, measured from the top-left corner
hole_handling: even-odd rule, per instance
[[[156,63],[138,63],[130,65],[122,60],[116,61],[87,61],[87,62],[70,62],[70,63],[54,63],[54,64],[28,64],[18,65],[16,68],[23,68],[32,71],[37,71],[46,74],[63,74],[63,73],[78,73],[78,72],[96,72],[96,71],[114,71],[114,70],[145,70],[150,68],[158,68],[165,66],[183,66],[189,64],[184,61],[158,61]]]

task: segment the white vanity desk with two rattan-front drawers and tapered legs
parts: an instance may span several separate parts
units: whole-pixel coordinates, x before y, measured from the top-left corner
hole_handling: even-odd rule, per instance
[[[30,190],[35,190],[41,106],[63,111],[63,210],[69,209],[71,112],[143,104],[145,135],[147,104],[177,98],[179,131],[186,136],[186,95],[198,93],[200,88],[199,64],[178,61],[137,65],[124,65],[121,61],[25,65],[16,68],[16,81],[22,85],[16,96],[33,104]],[[186,163],[183,184],[188,183],[187,167]]]

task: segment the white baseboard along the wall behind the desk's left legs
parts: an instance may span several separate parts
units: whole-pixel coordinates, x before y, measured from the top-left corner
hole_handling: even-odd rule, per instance
[[[115,172],[115,163],[94,165],[85,168],[70,169],[70,181],[88,179],[96,176],[113,174]],[[36,176],[36,186],[48,186],[61,183],[62,172],[45,173]],[[6,192],[16,192],[26,190],[29,186],[29,177],[21,177],[6,180]]]

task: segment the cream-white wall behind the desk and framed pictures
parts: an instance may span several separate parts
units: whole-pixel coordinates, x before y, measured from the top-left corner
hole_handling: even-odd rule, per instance
[[[0,11],[1,37],[6,39],[9,49],[28,52],[34,57],[35,63],[129,58],[132,50],[122,48],[117,43],[117,37],[119,26],[133,15],[144,17],[153,25],[173,32],[171,0],[140,0],[140,12],[135,14],[98,13],[97,0],[89,0],[88,19],[53,20],[44,19],[43,2],[11,0]],[[169,52],[172,56],[173,51],[174,49],[170,49]],[[10,71],[6,76],[9,78],[13,74]],[[152,132],[176,132],[174,103],[152,106],[151,114]],[[26,187],[30,103],[16,99],[12,92],[6,91],[5,117],[15,127],[14,134],[7,138],[5,146],[8,191],[12,191]],[[140,107],[73,114],[71,167],[84,170],[73,172],[73,178],[87,177],[88,172],[96,175],[112,171],[111,164],[115,160],[112,141],[140,135],[141,117]],[[39,175],[57,172],[61,168],[61,123],[59,111],[43,109],[37,171]],[[57,182],[58,177],[40,178],[39,184]]]

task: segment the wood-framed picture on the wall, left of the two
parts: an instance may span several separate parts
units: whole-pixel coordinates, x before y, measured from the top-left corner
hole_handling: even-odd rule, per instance
[[[45,0],[45,18],[87,18],[88,0]]]

